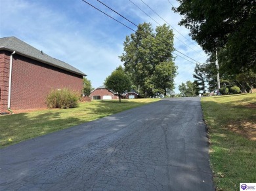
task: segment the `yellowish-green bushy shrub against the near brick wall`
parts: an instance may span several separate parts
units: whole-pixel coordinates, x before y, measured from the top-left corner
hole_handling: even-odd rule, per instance
[[[62,90],[51,90],[46,97],[46,104],[48,108],[74,108],[78,106],[79,97],[75,92],[68,88]]]

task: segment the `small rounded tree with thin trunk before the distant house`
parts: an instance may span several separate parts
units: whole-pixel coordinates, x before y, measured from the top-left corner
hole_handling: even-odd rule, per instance
[[[118,94],[119,102],[121,102],[121,94],[131,89],[131,81],[121,65],[106,77],[104,85]]]

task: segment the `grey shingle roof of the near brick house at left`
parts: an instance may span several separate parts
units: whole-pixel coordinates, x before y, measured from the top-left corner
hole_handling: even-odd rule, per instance
[[[78,75],[86,76],[85,73],[79,71],[79,69],[76,69],[72,65],[69,65],[64,61],[52,58],[44,52],[41,52],[33,46],[30,46],[30,44],[27,44],[24,41],[17,39],[16,37],[0,38],[0,50],[9,50],[11,52],[15,51],[16,54],[32,58],[33,60],[41,61],[48,65],[53,65],[54,67],[70,71]]]

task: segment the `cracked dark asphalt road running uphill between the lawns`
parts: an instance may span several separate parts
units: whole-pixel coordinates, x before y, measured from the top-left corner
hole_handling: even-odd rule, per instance
[[[215,190],[200,98],[150,105],[0,150],[0,190]]]

